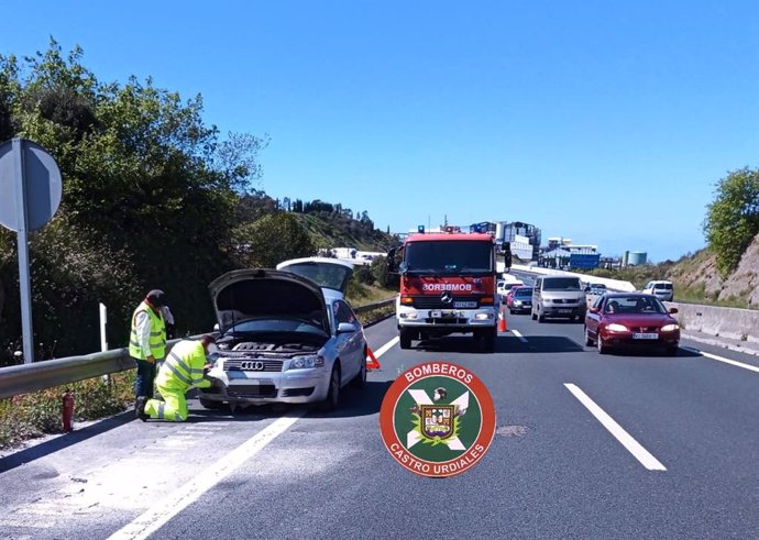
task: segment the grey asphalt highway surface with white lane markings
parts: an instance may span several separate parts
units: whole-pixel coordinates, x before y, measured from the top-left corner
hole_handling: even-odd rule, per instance
[[[582,324],[508,326],[492,354],[367,328],[382,370],[336,414],[193,400],[186,423],[123,414],[10,453],[0,537],[759,538],[759,359],[601,356]],[[380,437],[387,387],[430,360],[473,371],[497,410],[487,454],[450,478],[404,470]]]

